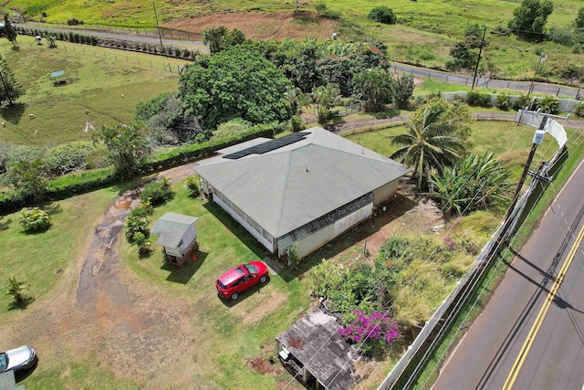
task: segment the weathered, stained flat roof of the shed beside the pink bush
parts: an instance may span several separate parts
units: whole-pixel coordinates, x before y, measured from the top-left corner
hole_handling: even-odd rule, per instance
[[[359,353],[339,334],[339,328],[335,317],[316,308],[276,340],[326,388],[346,390],[355,384],[350,370]]]

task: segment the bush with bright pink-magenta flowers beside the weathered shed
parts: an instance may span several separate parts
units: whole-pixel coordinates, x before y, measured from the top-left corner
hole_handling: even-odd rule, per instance
[[[360,352],[367,355],[377,355],[385,352],[391,343],[401,336],[398,323],[392,315],[373,311],[369,316],[359,309],[353,311],[357,318],[339,333],[349,342],[356,343]]]

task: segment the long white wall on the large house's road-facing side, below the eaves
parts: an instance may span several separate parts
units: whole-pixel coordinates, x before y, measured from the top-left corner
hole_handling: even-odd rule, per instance
[[[344,218],[335,221],[334,224],[323,227],[312,233],[310,236],[298,240],[296,242],[298,258],[305,258],[310,253],[328,243],[331,239],[338,237],[349,230],[349,228],[354,227],[364,219],[369,218],[372,213],[373,204],[371,203],[367,206],[361,207],[354,213],[349,214],[349,216],[345,216]]]

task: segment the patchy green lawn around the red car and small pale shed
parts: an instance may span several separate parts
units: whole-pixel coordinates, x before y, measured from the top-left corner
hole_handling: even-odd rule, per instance
[[[172,269],[162,265],[161,248],[156,248],[150,258],[140,259],[136,248],[121,238],[119,249],[125,258],[124,266],[144,283],[168,290],[182,300],[197,302],[198,310],[191,322],[204,337],[197,338],[197,378],[191,383],[193,388],[205,388],[210,383],[230,388],[235,378],[241,384],[254,384],[254,388],[275,388],[277,376],[258,374],[245,366],[245,361],[265,355],[266,351],[271,355],[274,337],[308,310],[311,299],[306,282],[287,273],[271,274],[261,290],[252,289],[242,294],[235,305],[225,305],[217,296],[214,280],[237,264],[262,260],[267,254],[218,206],[189,198],[183,182],[172,187],[176,190],[174,199],[157,207],[151,221],[170,211],[200,218],[196,223],[200,246],[197,260],[185,268]],[[157,236],[152,236],[155,241]],[[246,315],[261,320],[246,321]]]

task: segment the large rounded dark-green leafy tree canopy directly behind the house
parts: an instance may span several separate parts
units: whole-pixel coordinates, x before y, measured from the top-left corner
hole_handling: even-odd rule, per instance
[[[186,115],[203,127],[241,118],[253,124],[290,118],[285,92],[290,80],[251,47],[230,47],[184,69],[179,97]]]

